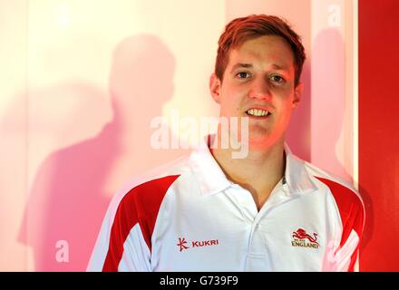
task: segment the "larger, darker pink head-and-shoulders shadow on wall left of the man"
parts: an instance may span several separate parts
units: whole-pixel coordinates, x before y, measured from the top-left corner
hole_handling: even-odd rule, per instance
[[[151,119],[173,94],[174,68],[156,36],[117,45],[109,79],[112,121],[94,138],[54,151],[35,175],[18,237],[33,248],[35,271],[84,271],[112,194],[133,175],[186,153],[150,144]],[[71,121],[72,130],[84,122]]]

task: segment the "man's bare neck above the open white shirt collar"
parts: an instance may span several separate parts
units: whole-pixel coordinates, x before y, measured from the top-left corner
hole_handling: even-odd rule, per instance
[[[243,159],[232,159],[231,148],[210,149],[210,152],[228,179],[248,189],[258,210],[283,178],[286,169],[284,140],[262,150],[249,148],[248,156]]]

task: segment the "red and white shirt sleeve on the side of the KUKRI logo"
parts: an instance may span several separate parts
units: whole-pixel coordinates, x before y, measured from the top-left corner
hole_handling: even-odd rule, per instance
[[[88,266],[89,271],[151,271],[151,239],[170,185],[180,175],[128,184],[112,198]]]

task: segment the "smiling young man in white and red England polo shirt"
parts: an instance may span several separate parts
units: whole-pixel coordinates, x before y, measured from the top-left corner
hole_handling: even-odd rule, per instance
[[[285,144],[304,61],[276,16],[230,22],[209,87],[221,117],[248,121],[248,154],[212,146],[219,126],[189,158],[133,182],[113,198],[88,270],[356,270],[361,198]]]

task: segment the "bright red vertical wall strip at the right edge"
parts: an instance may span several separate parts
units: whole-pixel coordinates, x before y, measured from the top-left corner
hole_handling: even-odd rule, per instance
[[[399,2],[359,0],[361,271],[399,271]]]

